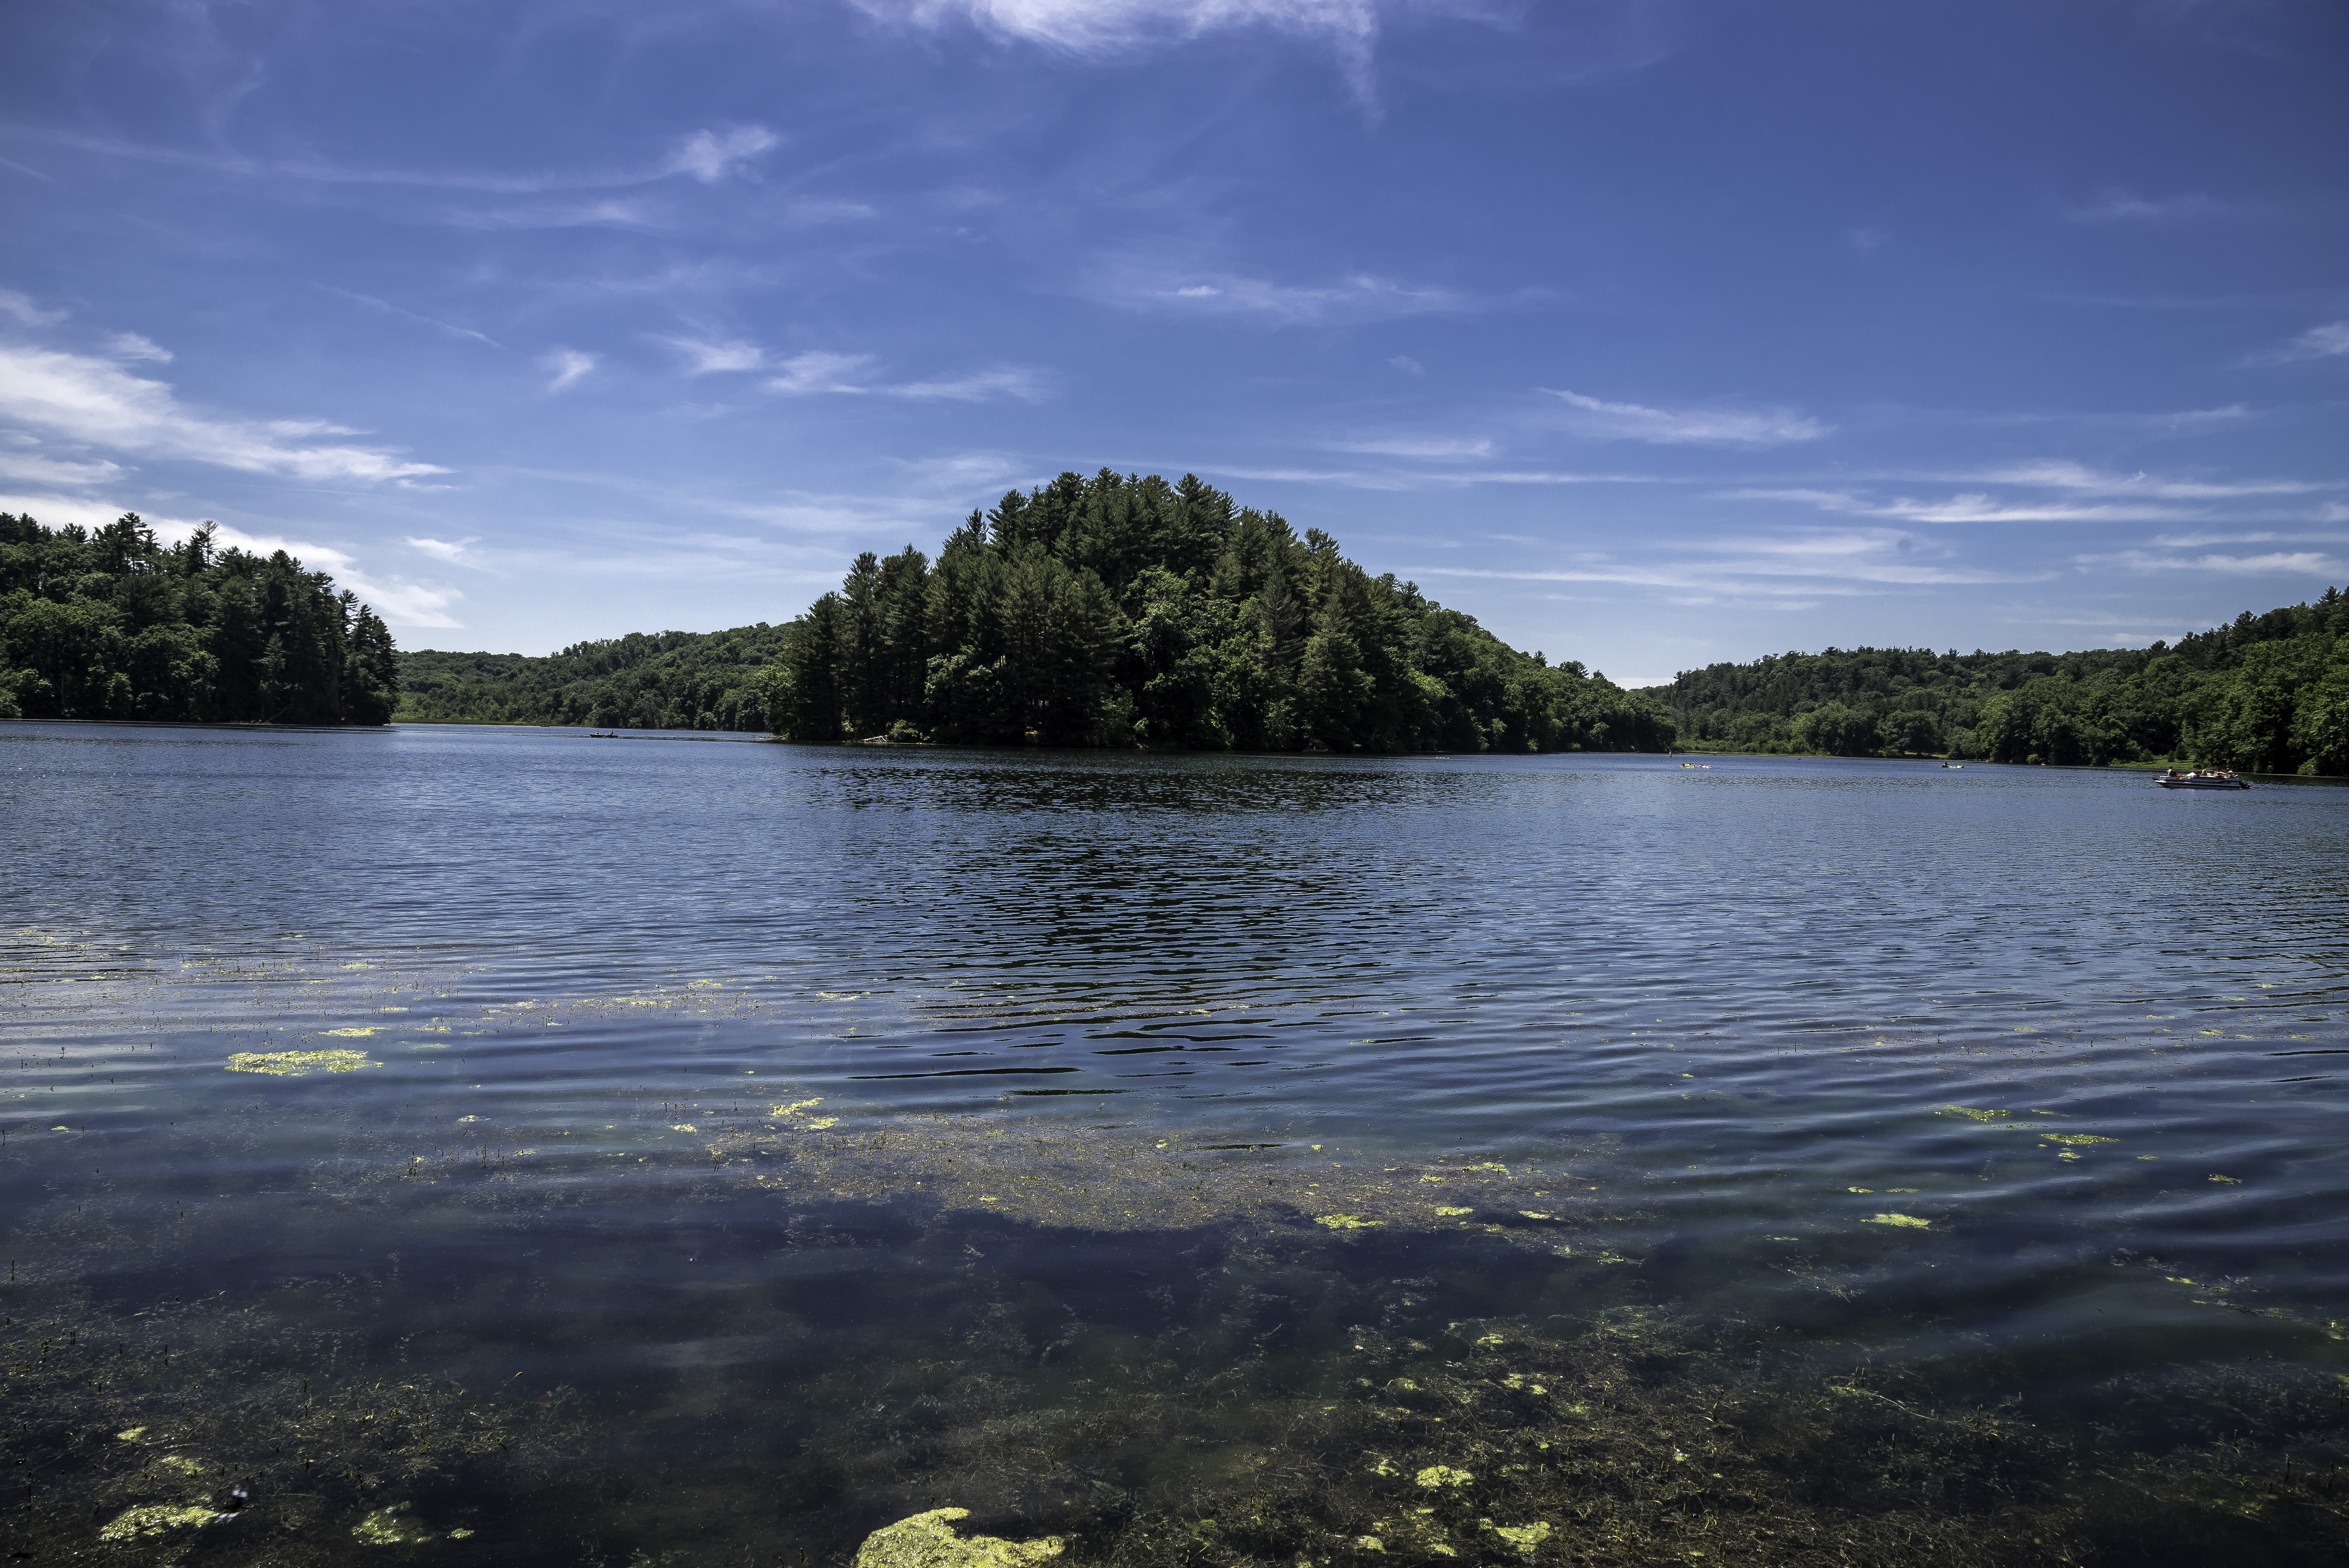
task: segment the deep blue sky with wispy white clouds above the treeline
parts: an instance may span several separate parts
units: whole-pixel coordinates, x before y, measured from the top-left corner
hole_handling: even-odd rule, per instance
[[[75,0],[0,19],[0,509],[402,646],[787,620],[1196,469],[1623,681],[2349,582],[2349,12]]]

